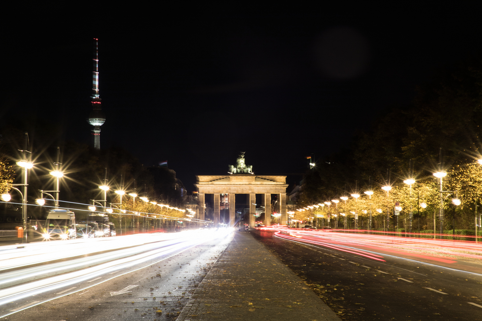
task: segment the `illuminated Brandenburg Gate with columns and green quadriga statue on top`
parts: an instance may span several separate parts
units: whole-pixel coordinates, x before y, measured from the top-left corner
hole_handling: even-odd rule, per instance
[[[228,194],[229,226],[235,225],[235,195],[249,194],[249,226],[254,228],[256,214],[256,194],[263,194],[261,205],[265,206],[265,226],[271,225],[271,194],[277,194],[281,225],[286,225],[286,176],[260,176],[253,173],[253,166],[244,164],[244,153],[236,160],[237,165],[228,166],[229,175],[197,176],[199,189],[198,209],[199,219],[204,219],[204,195],[214,194],[214,221],[219,223],[219,195]]]

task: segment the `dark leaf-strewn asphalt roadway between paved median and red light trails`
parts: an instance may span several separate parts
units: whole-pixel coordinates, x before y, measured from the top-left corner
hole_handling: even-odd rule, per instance
[[[387,255],[380,262],[272,231],[253,236],[343,320],[482,320],[481,275]]]

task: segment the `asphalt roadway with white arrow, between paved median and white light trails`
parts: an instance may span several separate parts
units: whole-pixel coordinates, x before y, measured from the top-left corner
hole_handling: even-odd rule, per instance
[[[175,320],[231,239],[179,249],[65,289],[11,302],[2,307],[8,311],[3,315],[8,315],[1,320]]]

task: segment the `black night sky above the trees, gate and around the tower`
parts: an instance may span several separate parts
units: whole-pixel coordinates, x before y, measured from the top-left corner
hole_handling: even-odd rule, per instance
[[[240,151],[258,174],[301,173],[305,156],[349,145],[408,105],[434,69],[480,51],[479,13],[455,4],[12,8],[1,126],[35,123],[92,144],[98,38],[101,147],[122,146],[146,166],[168,160],[188,189],[196,174],[226,174]]]

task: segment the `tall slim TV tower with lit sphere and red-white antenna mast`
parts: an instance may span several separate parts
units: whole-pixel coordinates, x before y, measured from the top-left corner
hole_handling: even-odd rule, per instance
[[[94,148],[100,149],[100,127],[106,122],[106,116],[102,112],[99,96],[99,51],[98,40],[94,38],[94,70],[92,71],[92,107],[88,122],[94,126]]]

